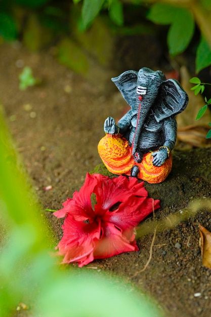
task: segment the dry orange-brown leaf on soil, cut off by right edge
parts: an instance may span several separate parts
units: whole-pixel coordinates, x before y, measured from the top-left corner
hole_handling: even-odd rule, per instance
[[[211,268],[211,232],[199,224],[202,265]]]

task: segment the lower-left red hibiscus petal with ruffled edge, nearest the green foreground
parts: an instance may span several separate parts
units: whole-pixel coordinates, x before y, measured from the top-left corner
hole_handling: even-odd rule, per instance
[[[68,214],[62,227],[63,237],[58,244],[59,254],[64,255],[62,263],[78,262],[78,266],[83,266],[93,261],[93,250],[100,239],[100,223],[75,221]]]

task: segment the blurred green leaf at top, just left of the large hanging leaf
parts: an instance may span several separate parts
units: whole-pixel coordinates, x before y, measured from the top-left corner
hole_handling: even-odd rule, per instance
[[[171,24],[174,21],[176,7],[166,4],[155,4],[151,7],[147,18],[157,24]]]

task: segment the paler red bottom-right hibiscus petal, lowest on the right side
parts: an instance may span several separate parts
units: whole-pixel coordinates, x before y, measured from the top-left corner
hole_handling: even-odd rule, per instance
[[[95,259],[108,258],[122,252],[137,251],[133,229],[124,233],[119,231],[112,223],[106,223],[104,236],[96,244]]]

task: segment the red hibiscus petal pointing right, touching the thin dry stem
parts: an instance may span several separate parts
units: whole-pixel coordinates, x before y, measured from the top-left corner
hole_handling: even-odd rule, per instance
[[[144,218],[146,218],[153,208],[159,208],[159,201],[149,197],[131,196],[126,202],[119,205],[117,210],[107,211],[103,217],[104,221],[115,224],[121,230],[136,227]]]

